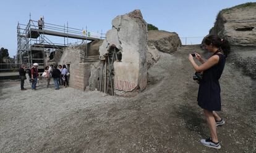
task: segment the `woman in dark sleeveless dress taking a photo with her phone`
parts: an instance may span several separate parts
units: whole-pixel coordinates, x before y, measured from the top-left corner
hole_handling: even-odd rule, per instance
[[[205,49],[213,53],[211,57],[205,61],[198,53],[195,53],[202,65],[195,63],[193,56],[189,55],[189,60],[197,73],[202,73],[202,79],[199,80],[199,89],[197,101],[198,105],[203,109],[210,128],[211,137],[201,139],[201,143],[208,147],[220,149],[221,145],[218,141],[216,127],[223,125],[225,122],[215,111],[221,111],[221,96],[219,79],[223,73],[226,57],[230,52],[229,42],[218,36],[208,36],[205,38]]]

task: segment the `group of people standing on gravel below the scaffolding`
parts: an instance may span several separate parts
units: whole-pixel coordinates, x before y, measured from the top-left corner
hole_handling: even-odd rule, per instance
[[[21,65],[19,69],[20,74],[20,90],[27,90],[24,88],[24,80],[27,79],[26,77],[26,66]],[[29,71],[28,71],[29,72]],[[34,63],[32,68],[30,69],[30,82],[32,90],[36,90],[36,84],[38,82],[38,63]],[[64,87],[68,87],[69,81],[68,81],[68,75],[69,71],[67,70],[66,65],[59,65],[57,68],[57,65],[50,65],[45,67],[45,71],[41,75],[41,78],[46,79],[46,88],[49,87],[49,83],[51,81],[51,77],[53,77],[54,81],[54,87],[55,90],[59,90],[60,85],[64,85]]]

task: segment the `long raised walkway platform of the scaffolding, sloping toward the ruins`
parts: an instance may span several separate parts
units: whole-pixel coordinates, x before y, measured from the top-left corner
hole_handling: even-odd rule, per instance
[[[94,37],[85,37],[85,36],[77,35],[77,34],[60,33],[57,31],[51,31],[51,30],[47,30],[47,29],[34,29],[34,28],[31,28],[30,31],[28,31],[27,37],[37,38],[40,36],[40,34],[59,36],[59,37],[69,37],[69,38],[82,39],[82,40],[88,40],[88,41],[98,40],[97,38],[94,38]]]

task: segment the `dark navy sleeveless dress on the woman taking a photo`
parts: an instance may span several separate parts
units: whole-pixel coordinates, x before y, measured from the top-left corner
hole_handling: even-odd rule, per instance
[[[203,71],[203,79],[200,80],[197,101],[198,105],[208,111],[221,111],[221,96],[219,79],[223,72],[226,57],[221,53],[214,53],[219,56],[218,64]]]

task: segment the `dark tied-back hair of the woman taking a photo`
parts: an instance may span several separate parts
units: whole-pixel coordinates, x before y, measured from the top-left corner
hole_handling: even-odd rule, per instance
[[[231,49],[228,40],[221,39],[220,37],[218,37],[216,35],[207,36],[205,38],[205,44],[213,45],[213,46],[221,49],[226,57],[228,57],[228,54]]]

